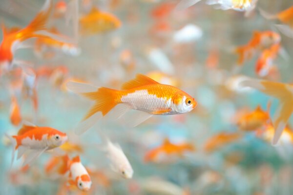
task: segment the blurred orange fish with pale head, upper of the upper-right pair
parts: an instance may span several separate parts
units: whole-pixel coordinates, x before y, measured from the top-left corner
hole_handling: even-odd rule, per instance
[[[251,40],[242,46],[236,48],[235,52],[239,55],[238,65],[242,65],[245,60],[251,59],[256,51],[272,47],[281,41],[281,36],[273,31],[259,32],[255,31]]]

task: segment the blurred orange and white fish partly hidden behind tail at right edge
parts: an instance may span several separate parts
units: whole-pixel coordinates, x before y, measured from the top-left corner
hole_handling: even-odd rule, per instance
[[[272,142],[275,129],[272,124],[267,124],[263,129],[259,129],[256,132],[257,136],[263,137],[266,141]],[[293,131],[286,126],[282,132],[278,144],[280,145],[292,145],[293,144]]]

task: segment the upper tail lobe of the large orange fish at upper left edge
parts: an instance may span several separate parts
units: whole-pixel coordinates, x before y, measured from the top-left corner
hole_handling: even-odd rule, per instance
[[[53,10],[52,0],[46,0],[41,11],[37,16],[27,25],[25,28],[30,32],[36,32],[40,30],[46,30],[45,24],[49,19],[49,16]]]

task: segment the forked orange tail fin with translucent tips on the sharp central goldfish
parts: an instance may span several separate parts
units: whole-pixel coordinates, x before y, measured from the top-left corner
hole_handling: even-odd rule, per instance
[[[78,135],[91,128],[97,120],[104,117],[117,105],[117,102],[115,102],[116,90],[105,87],[98,88],[79,82],[68,82],[66,86],[70,91],[96,101],[84,117],[84,120],[76,128],[76,134]]]

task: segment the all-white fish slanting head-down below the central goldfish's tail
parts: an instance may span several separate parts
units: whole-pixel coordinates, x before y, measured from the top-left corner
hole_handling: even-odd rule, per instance
[[[118,144],[113,144],[108,138],[105,139],[105,146],[102,150],[106,152],[110,160],[111,169],[123,178],[132,178],[133,169],[121,147]]]

